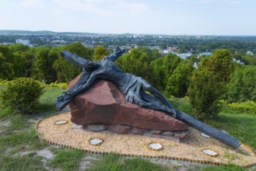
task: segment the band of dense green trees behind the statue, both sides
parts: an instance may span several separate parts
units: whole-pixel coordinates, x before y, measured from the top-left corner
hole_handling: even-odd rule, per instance
[[[90,48],[80,43],[59,47],[0,46],[0,79],[28,77],[45,83],[70,82],[82,71],[60,57],[62,50],[93,61],[111,53],[103,46]],[[246,61],[246,65],[237,64],[234,58]],[[220,99],[228,103],[256,101],[255,59],[225,49],[209,57],[195,54],[181,59],[176,54],[163,55],[139,47],[127,50],[115,62],[124,72],[141,76],[169,98],[189,96],[195,115],[205,118],[218,113]],[[195,62],[198,68],[193,67]]]

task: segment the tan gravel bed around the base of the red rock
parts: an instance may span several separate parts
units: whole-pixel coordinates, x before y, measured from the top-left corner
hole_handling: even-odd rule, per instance
[[[248,148],[241,148],[243,152],[234,150],[212,138],[202,137],[199,131],[189,127],[188,136],[180,143],[160,138],[150,138],[134,134],[113,134],[107,131],[92,132],[82,129],[72,129],[70,113],[60,113],[37,124],[40,138],[51,144],[63,145],[68,148],[79,148],[86,152],[108,153],[116,152],[120,155],[138,156],[146,158],[163,158],[184,160],[188,162],[201,162],[212,164],[234,164],[237,166],[251,166],[256,163],[256,156]],[[68,124],[56,125],[55,121],[68,120]],[[90,138],[101,138],[103,144],[90,145]],[[163,150],[157,152],[150,150],[150,142],[163,145]],[[202,150],[210,149],[219,154],[218,157],[205,155]]]

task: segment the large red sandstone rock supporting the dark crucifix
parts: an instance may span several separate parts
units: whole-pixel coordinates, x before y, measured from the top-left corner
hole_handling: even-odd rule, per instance
[[[79,77],[72,80],[75,84]],[[111,82],[99,80],[69,103],[75,124],[124,124],[142,129],[184,131],[188,125],[157,110],[129,103]]]

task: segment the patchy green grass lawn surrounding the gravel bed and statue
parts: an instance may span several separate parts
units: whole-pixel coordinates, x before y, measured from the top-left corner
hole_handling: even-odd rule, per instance
[[[167,165],[153,162],[152,159],[125,158],[117,154],[90,155],[47,145],[37,137],[35,125],[37,120],[58,112],[52,103],[63,91],[65,89],[47,87],[40,98],[38,112],[31,115],[18,115],[9,109],[0,110],[0,170],[247,170],[237,166],[203,166],[192,163],[174,162]],[[184,101],[173,99],[172,102],[187,113],[191,111]],[[220,113],[215,120],[208,120],[207,124],[227,131],[256,149],[256,115]],[[41,155],[40,152],[49,154]],[[249,169],[256,170],[255,167]]]

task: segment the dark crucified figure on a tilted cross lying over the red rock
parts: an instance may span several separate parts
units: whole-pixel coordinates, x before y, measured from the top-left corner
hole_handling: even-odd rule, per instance
[[[122,72],[121,68],[114,64],[114,61],[123,53],[124,50],[117,47],[112,54],[107,55],[100,61],[88,61],[68,51],[61,51],[61,57],[81,67],[82,73],[79,80],[75,82],[75,85],[55,100],[54,106],[58,110],[62,110],[76,95],[88,90],[96,79],[105,79],[114,83],[124,93],[125,99],[131,103],[153,110],[161,110],[171,117],[184,121],[184,123],[198,131],[209,134],[212,138],[216,138],[226,145],[230,145],[233,148],[240,146],[240,142],[236,138],[223,133],[223,131],[209,127],[209,125],[203,124],[186,113],[176,110],[162,93],[151,86],[149,82],[146,82],[145,79]],[[150,94],[145,91],[150,92]]]

